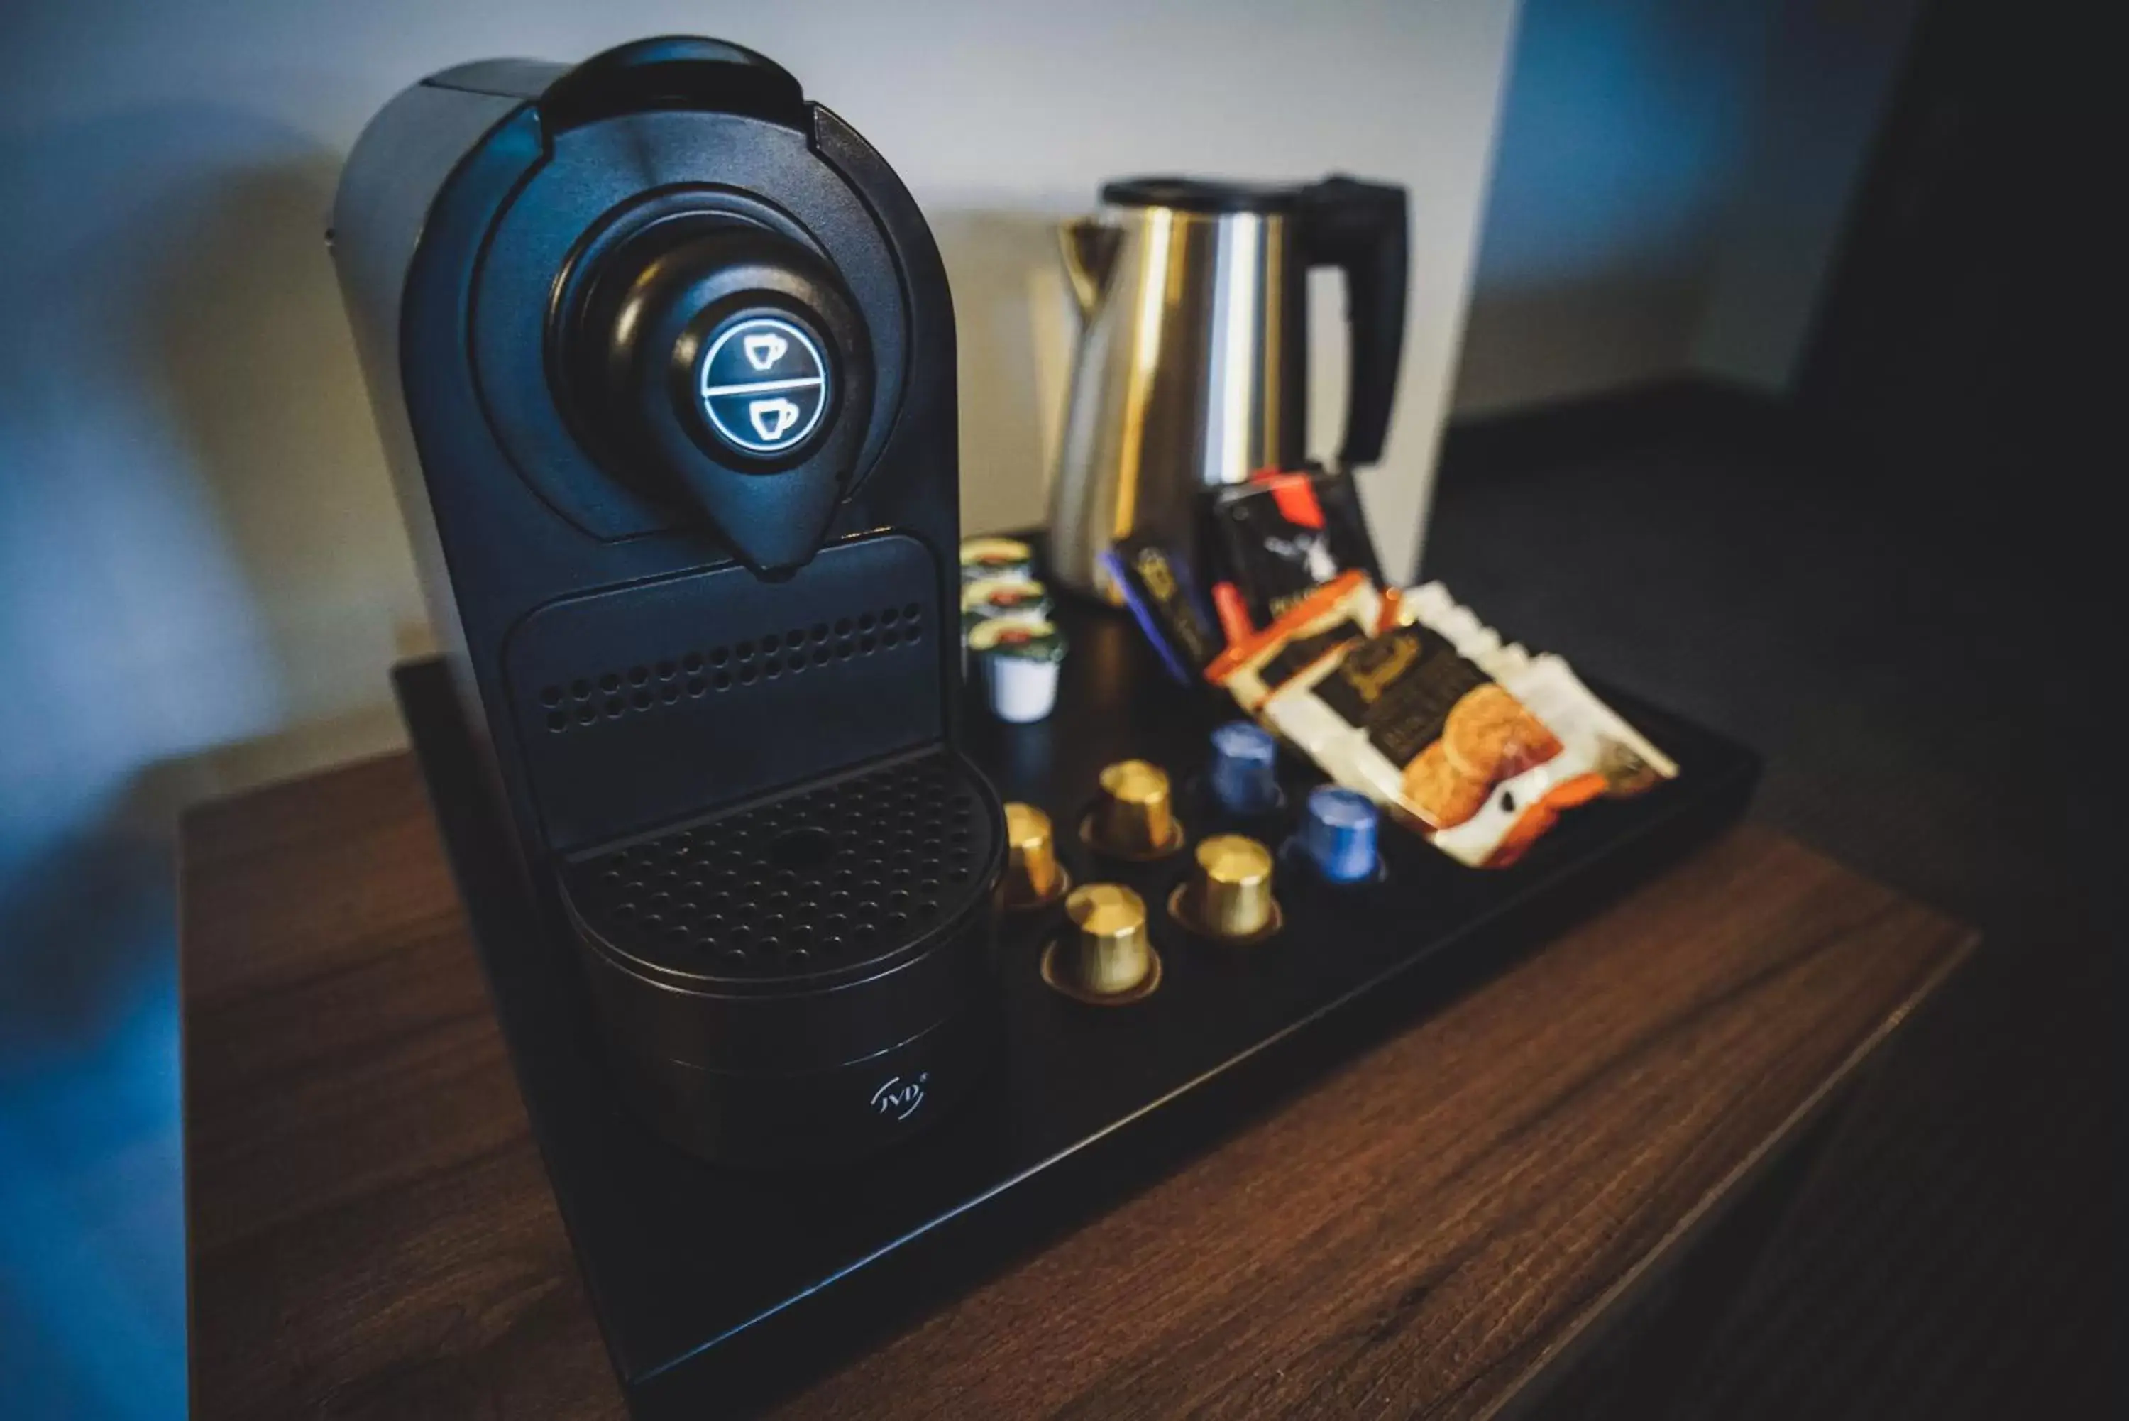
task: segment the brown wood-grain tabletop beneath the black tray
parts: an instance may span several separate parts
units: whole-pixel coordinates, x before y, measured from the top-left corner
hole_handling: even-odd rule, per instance
[[[200,807],[181,886],[194,1417],[622,1415],[413,763]],[[1737,829],[777,1415],[1556,1395],[1971,942]]]

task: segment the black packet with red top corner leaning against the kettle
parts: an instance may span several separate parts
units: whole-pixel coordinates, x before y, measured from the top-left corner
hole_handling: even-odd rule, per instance
[[[1211,528],[1226,579],[1258,626],[1339,573],[1382,579],[1348,473],[1260,471],[1214,494]]]

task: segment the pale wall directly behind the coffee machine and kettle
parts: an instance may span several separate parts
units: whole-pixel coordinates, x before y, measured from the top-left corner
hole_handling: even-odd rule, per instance
[[[17,846],[158,761],[181,797],[396,741],[385,667],[426,633],[319,232],[364,119],[466,58],[709,32],[849,117],[945,249],[971,528],[1041,511],[1069,339],[1050,222],[1103,177],[1409,183],[1401,407],[1365,494],[1388,562],[1416,556],[1516,0],[0,11],[0,654],[17,688],[0,833]],[[1320,305],[1331,445],[1343,352],[1337,303]]]

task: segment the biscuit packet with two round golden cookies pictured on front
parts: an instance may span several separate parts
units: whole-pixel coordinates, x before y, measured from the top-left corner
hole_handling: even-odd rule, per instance
[[[1441,584],[1397,597],[1341,577],[1207,680],[1473,867],[1516,863],[1573,805],[1678,773],[1565,660],[1503,643]]]

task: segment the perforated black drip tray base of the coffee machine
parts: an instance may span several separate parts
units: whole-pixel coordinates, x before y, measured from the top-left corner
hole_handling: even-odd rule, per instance
[[[990,786],[945,748],[562,861],[558,899],[624,1097],[681,1148],[847,1163],[984,1072]],[[926,1110],[879,1110],[920,1082]]]

